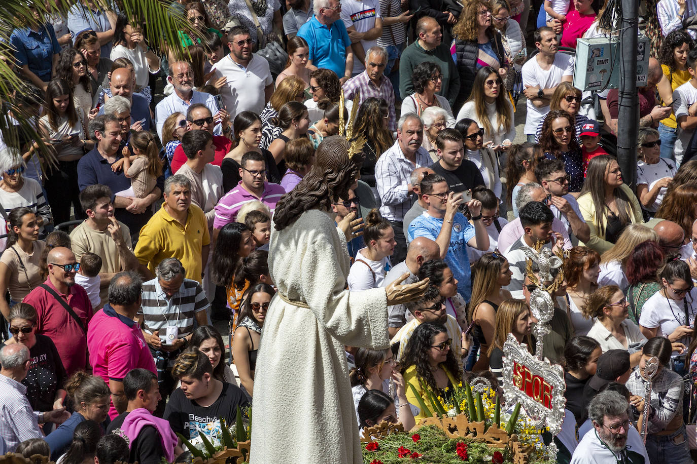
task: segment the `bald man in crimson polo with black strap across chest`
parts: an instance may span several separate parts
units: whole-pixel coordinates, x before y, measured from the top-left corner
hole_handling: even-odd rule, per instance
[[[93,308],[84,288],[75,283],[79,263],[70,248],[49,251],[48,278],[29,292],[23,303],[36,309],[36,333],[46,335],[56,349],[68,375],[86,368],[87,323]]]

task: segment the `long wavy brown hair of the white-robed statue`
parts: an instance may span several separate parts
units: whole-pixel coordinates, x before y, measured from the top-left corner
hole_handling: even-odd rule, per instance
[[[363,163],[360,153],[348,158],[350,146],[342,136],[327,137],[319,144],[312,169],[277,203],[273,215],[276,230],[284,230],[309,209],[330,209],[332,202],[348,198],[348,189]]]

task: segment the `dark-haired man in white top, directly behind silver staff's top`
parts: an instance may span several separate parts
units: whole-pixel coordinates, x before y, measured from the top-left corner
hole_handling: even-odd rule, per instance
[[[553,232],[554,214],[543,202],[529,202],[521,208],[519,217],[523,226],[523,235],[503,252],[513,272],[511,283],[504,288],[511,292],[513,298],[522,300],[525,298],[523,296],[523,281],[526,276],[527,257],[523,249],[534,249],[535,244],[541,241],[546,248],[553,246],[553,250],[561,250],[564,238],[560,233]],[[552,237],[556,237],[554,243],[552,243]]]

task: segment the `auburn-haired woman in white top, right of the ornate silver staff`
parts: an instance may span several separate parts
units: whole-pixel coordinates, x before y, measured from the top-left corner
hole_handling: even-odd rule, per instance
[[[593,326],[592,319],[588,319],[581,308],[585,305],[586,298],[597,288],[599,264],[599,255],[585,246],[574,246],[564,262],[566,300],[575,335],[586,335]]]

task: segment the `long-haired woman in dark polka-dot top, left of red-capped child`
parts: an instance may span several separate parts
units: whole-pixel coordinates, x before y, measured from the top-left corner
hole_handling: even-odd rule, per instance
[[[574,118],[563,110],[550,111],[542,124],[539,145],[547,159],[564,161],[569,180],[569,192],[580,192],[583,187],[583,158],[576,142]]]

